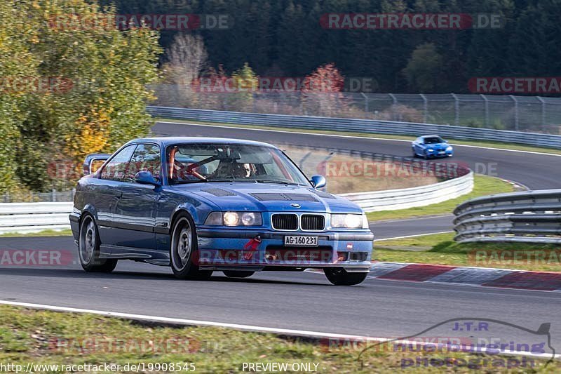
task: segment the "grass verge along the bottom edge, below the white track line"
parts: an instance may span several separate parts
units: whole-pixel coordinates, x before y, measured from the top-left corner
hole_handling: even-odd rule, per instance
[[[158,370],[156,365],[174,363],[183,367],[193,363],[196,373],[242,372],[243,363],[311,363],[317,364],[319,373],[390,373],[403,368],[403,359],[415,360],[418,356],[430,359],[447,359],[448,370],[473,373],[464,362],[480,362],[483,356],[436,350],[412,352],[395,351],[392,345],[371,347],[364,355],[365,365],[360,367],[357,358],[364,345],[329,345],[328,342],[295,340],[263,333],[248,333],[226,328],[162,327],[133,321],[96,316],[48,312],[20,307],[0,306],[0,363],[35,365],[120,365],[119,373],[131,373],[126,364],[144,363],[144,373],[172,373]],[[490,360],[503,360],[502,356],[485,356]],[[520,358],[519,358],[520,359]],[[407,361],[406,361],[407,362]],[[411,361],[414,362],[414,361]],[[532,372],[554,373],[561,370],[559,362],[544,366],[546,361],[535,360]],[[148,370],[149,364],[154,370]],[[65,366],[62,366],[65,365]],[[487,367],[483,367],[485,370]],[[64,370],[36,370],[41,373],[61,373]],[[442,372],[442,366],[412,366],[411,373]],[[70,370],[67,370],[70,371]],[[85,371],[85,370],[84,370]],[[250,371],[248,368],[245,371]],[[262,370],[255,370],[261,371]],[[274,370],[266,370],[271,372]],[[292,370],[288,370],[292,371]],[[301,370],[302,371],[302,370]],[[493,372],[506,372],[506,368],[493,368]],[[508,370],[511,372],[511,370]],[[186,370],[175,370],[186,372]],[[99,370],[98,373],[106,373]]]

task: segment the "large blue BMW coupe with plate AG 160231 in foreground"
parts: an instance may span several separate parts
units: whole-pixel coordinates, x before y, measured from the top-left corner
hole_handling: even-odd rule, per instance
[[[76,187],[72,233],[86,272],[118,260],[170,266],[180,279],[213,271],[323,269],[362,282],[374,235],[355,203],[322,192],[280,149],[262,142],[146,138],[126,143]]]

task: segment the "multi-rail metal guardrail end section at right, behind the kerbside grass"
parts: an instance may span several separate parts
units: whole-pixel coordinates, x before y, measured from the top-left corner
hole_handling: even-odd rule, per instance
[[[482,196],[454,215],[456,241],[561,243],[561,189]]]

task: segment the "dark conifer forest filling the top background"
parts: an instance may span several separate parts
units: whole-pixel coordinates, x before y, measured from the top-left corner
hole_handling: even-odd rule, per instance
[[[259,76],[305,76],[334,62],[344,76],[371,77],[377,92],[464,93],[473,76],[557,76],[559,0],[103,0],[124,14],[227,14],[203,37],[210,65]],[[499,13],[499,29],[324,29],[325,13]],[[177,32],[163,30],[170,46]],[[165,60],[163,55],[162,60]]]

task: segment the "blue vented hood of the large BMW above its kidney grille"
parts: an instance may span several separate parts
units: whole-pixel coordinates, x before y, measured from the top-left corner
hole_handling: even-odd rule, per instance
[[[175,192],[196,194],[212,201],[222,211],[362,213],[360,207],[352,201],[304,186],[209,182],[176,185],[172,188]]]

